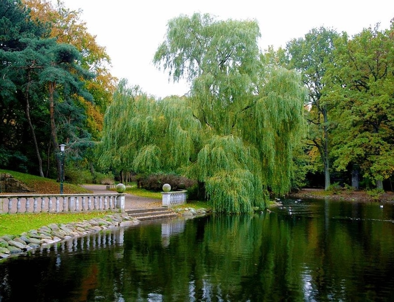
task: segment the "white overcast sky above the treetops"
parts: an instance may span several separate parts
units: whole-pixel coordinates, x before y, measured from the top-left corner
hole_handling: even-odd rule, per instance
[[[82,9],[81,19],[112,60],[111,74],[157,97],[188,91],[185,83],[168,82],[168,75],[152,63],[163,42],[169,19],[180,14],[209,13],[217,19],[256,19],[268,45],[285,47],[292,38],[325,26],[350,36],[363,28],[390,27],[394,0],[63,0]]]

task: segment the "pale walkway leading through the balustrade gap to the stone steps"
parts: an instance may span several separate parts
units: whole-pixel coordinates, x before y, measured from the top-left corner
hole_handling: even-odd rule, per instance
[[[106,189],[105,185],[83,185],[84,188],[91,190],[93,193],[107,194],[111,193]],[[161,199],[146,198],[131,194],[126,194],[125,198],[125,210],[132,209],[149,209],[157,208],[162,206]]]

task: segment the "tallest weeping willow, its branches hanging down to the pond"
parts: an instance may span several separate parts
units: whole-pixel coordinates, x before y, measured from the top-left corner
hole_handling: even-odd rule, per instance
[[[294,72],[263,64],[259,38],[254,20],[181,15],[154,57],[174,81],[191,83],[206,137],[189,172],[218,211],[250,212],[265,206],[268,190],[290,189],[305,94]]]

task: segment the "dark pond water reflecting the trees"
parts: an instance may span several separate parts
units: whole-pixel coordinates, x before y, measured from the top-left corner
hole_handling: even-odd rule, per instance
[[[390,204],[284,200],[145,223],[0,263],[8,301],[394,301]]]

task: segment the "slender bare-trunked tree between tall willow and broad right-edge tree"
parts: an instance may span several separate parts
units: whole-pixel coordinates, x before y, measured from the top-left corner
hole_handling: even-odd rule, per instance
[[[301,73],[302,82],[308,87],[309,98],[307,120],[309,125],[308,144],[317,148],[324,165],[325,189],[330,185],[329,111],[332,104],[324,92],[324,76],[333,61],[334,40],[339,35],[324,27],[312,29],[304,38],[287,43],[288,67]]]

